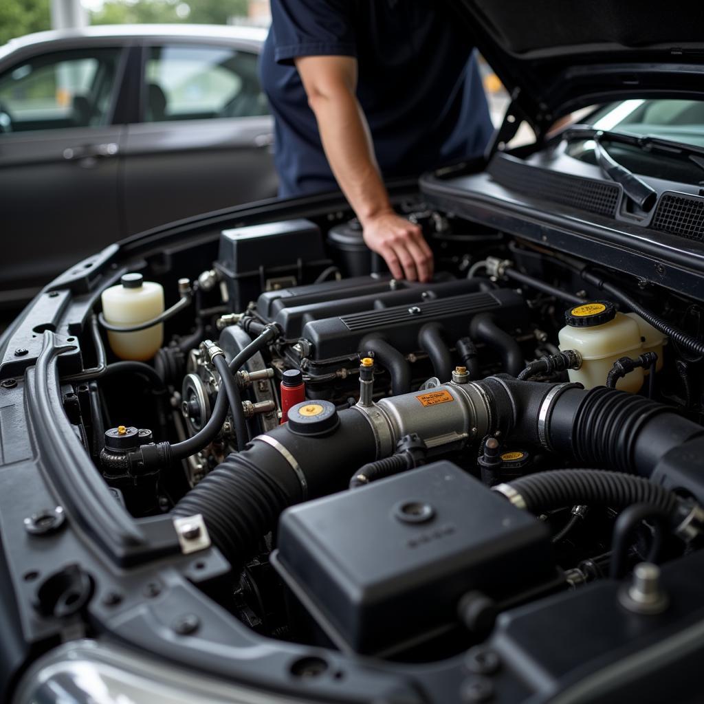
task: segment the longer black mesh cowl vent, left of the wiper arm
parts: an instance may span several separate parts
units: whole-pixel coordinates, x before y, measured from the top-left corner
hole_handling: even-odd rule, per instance
[[[548,171],[499,154],[489,164],[489,174],[502,186],[577,210],[613,218],[621,187],[614,183]]]

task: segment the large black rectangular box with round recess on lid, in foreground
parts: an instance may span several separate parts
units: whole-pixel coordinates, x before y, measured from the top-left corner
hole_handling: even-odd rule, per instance
[[[327,636],[374,655],[457,624],[467,591],[503,599],[555,576],[546,526],[446,461],[287,509],[278,546]]]

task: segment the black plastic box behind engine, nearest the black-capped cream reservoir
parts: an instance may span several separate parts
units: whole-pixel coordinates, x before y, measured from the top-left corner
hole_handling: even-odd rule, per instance
[[[282,220],[223,230],[215,268],[227,284],[232,310],[244,310],[261,291],[315,279],[332,264],[318,225]]]

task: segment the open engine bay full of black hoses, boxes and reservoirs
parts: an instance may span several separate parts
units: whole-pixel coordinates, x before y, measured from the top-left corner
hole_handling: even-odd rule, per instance
[[[58,357],[113,501],[172,522],[189,582],[253,637],[315,648],[296,678],[333,681],[332,652],[465,672],[605,608],[599,589],[622,616],[672,615],[658,565],[689,569],[704,519],[701,301],[399,209],[431,282],[392,279],[344,212],[113,268]]]

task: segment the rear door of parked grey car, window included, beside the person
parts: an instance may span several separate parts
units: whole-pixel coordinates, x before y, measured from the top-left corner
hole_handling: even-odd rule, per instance
[[[276,195],[257,55],[232,44],[144,47],[142,122],[125,144],[127,230]]]

